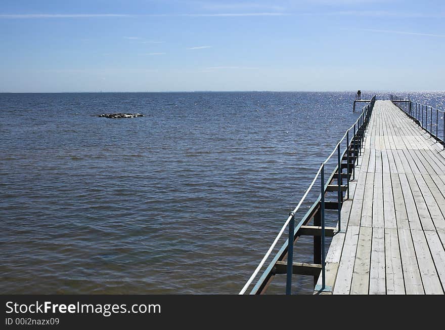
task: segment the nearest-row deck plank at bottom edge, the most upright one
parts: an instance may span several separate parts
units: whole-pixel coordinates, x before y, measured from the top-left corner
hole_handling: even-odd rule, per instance
[[[371,270],[369,278],[369,294],[386,294],[385,270],[385,230],[373,228],[371,248]]]

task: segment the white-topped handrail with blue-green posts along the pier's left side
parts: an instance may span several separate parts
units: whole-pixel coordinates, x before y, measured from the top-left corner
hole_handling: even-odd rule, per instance
[[[310,183],[308,189],[303,194],[303,197],[300,199],[300,201],[298,202],[297,206],[294,208],[293,211],[291,211],[289,213],[289,217],[287,218],[287,220],[283,224],[281,230],[279,231],[278,235],[274,239],[272,245],[269,247],[268,252],[266,252],[264,257],[259,262],[258,266],[253,271],[252,275],[249,277],[247,282],[244,284],[243,288],[239,292],[239,295],[243,295],[246,292],[247,288],[250,286],[252,281],[258,275],[258,272],[260,271],[260,269],[264,265],[265,261],[271,255],[271,253],[274,250],[276,244],[278,243],[278,240],[281,238],[281,236],[284,233],[284,230],[286,229],[286,227],[288,225],[289,225],[289,238],[288,238],[289,251],[288,251],[288,271],[287,271],[286,293],[290,294],[290,283],[291,283],[291,275],[292,275],[292,251],[293,251],[293,237],[294,237],[294,226],[295,226],[295,223],[294,223],[295,213],[301,207],[301,204],[305,200],[305,198],[308,195],[309,191],[313,188],[315,182],[317,181],[317,179],[319,178],[320,175],[322,176],[322,179],[323,179],[322,182],[321,182],[321,184],[322,184],[322,191],[326,192],[326,186],[325,186],[325,183],[324,183],[324,166],[325,166],[325,164],[331,159],[331,157],[337,151],[337,153],[338,153],[338,161],[339,161],[339,166],[340,166],[340,162],[341,162],[340,159],[342,159],[344,154],[348,152],[348,150],[349,150],[349,148],[350,148],[350,146],[352,144],[352,141],[355,139],[356,135],[359,132],[359,130],[357,130],[357,132],[356,132],[356,130],[355,130],[356,126],[359,124],[359,128],[363,128],[363,126],[365,125],[365,116],[368,117],[368,112],[369,112],[370,109],[372,111],[372,108],[374,107],[374,104],[375,104],[375,99],[376,99],[376,96],[374,95],[374,97],[371,99],[371,101],[362,108],[362,113],[359,116],[359,118],[357,118],[357,120],[355,120],[355,122],[351,125],[351,127],[346,130],[346,133],[343,135],[343,137],[337,143],[337,145],[335,146],[335,148],[331,152],[331,154],[326,158],[326,160],[324,162],[321,163],[320,168],[317,171],[317,174],[315,175],[313,181]],[[353,139],[351,139],[349,141],[348,134],[349,134],[349,131],[351,131],[352,129],[354,130],[354,137],[353,137]],[[340,158],[340,145],[344,141],[345,138],[347,138],[347,140],[348,140],[347,143],[346,143],[347,149],[345,150],[345,152],[343,153],[342,157]],[[354,140],[354,144],[355,144],[355,140]],[[347,163],[348,163],[348,174],[346,175],[346,177],[347,177],[347,194],[349,196],[349,180],[350,180],[349,153],[347,154]],[[338,184],[339,188],[338,189],[339,189],[339,194],[340,194],[340,184],[341,184],[340,181],[342,181],[341,180],[341,168],[338,168],[338,173],[339,173],[339,177],[337,178],[337,180],[339,181],[339,184]],[[319,199],[320,199],[320,197],[319,197]],[[324,204],[324,193],[321,193],[321,201]],[[340,226],[340,201],[339,201],[339,210],[338,211],[339,211],[338,220],[339,220],[339,226]],[[323,260],[323,262],[322,262],[322,272],[323,272],[323,286],[324,286],[325,285],[325,269],[324,269],[324,208],[322,209],[322,214],[323,214],[323,216],[322,216],[322,251],[323,251],[323,253],[322,253],[322,260]]]

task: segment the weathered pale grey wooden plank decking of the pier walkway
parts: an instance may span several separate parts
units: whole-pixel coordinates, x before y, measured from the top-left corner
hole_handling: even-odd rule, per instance
[[[443,146],[391,101],[376,101],[323,294],[443,294],[444,216]]]

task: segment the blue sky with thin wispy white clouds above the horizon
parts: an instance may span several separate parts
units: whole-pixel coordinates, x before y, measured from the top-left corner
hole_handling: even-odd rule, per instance
[[[445,2],[1,0],[0,92],[445,90]]]

